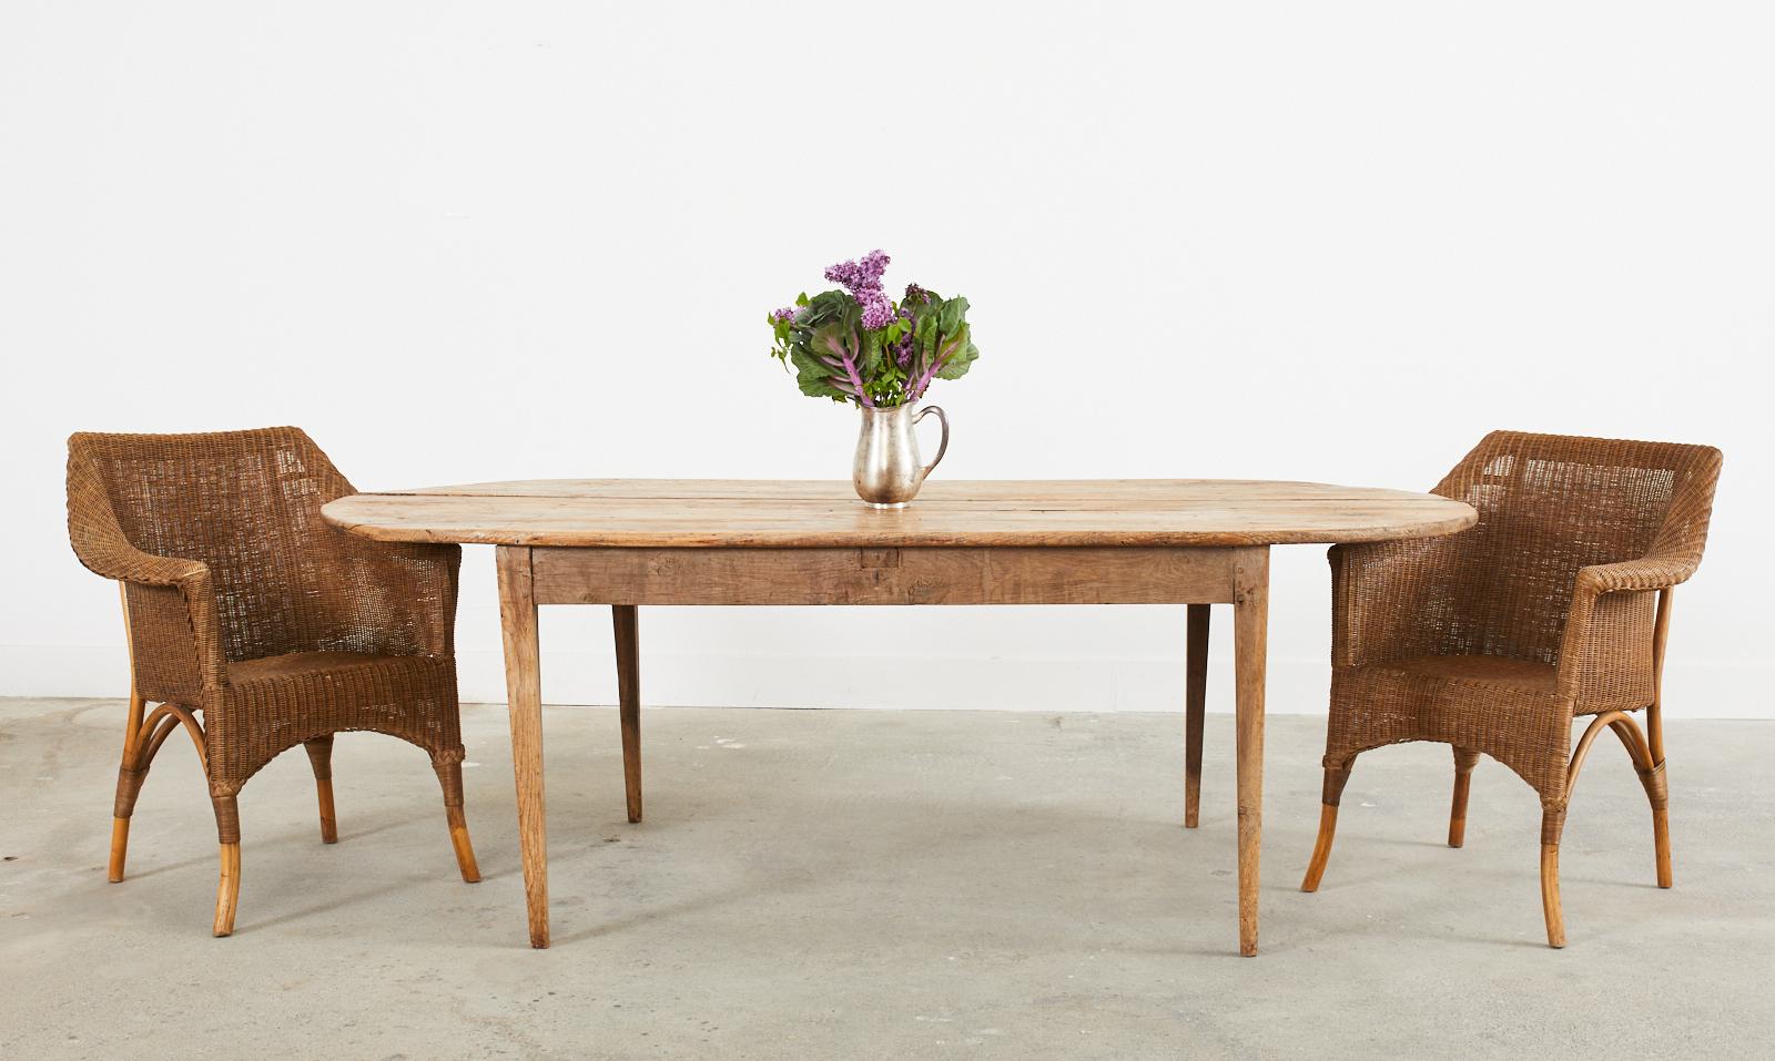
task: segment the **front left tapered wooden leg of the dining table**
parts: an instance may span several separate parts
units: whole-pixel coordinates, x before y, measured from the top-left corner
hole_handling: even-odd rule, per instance
[[[548,832],[543,818],[543,690],[529,546],[499,546],[499,623],[506,644],[511,770],[518,782],[518,846],[531,946],[548,946]]]

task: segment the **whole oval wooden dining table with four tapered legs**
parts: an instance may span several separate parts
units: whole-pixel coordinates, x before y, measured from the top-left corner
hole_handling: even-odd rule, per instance
[[[540,479],[360,493],[327,522],[497,550],[531,946],[548,946],[540,605],[609,605],[628,820],[641,820],[643,605],[1187,605],[1184,825],[1200,804],[1211,605],[1234,610],[1239,953],[1257,953],[1273,545],[1452,534],[1447,497],[1216,479],[930,481],[903,509],[843,481]]]

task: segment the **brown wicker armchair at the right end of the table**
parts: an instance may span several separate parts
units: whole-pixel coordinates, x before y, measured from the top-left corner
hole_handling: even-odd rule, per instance
[[[1475,527],[1333,548],[1324,806],[1301,891],[1324,875],[1356,756],[1434,740],[1454,745],[1448,846],[1480,752],[1541,795],[1542,912],[1548,944],[1566,946],[1558,841],[1605,726],[1645,786],[1670,887],[1660,678],[1672,587],[1700,564],[1718,475],[1706,445],[1496,431],[1436,486],[1479,509]],[[1576,751],[1574,715],[1592,715]]]

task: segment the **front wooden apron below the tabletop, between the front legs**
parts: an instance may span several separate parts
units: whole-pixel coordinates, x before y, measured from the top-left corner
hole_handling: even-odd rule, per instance
[[[531,571],[540,605],[1230,603],[1241,552],[1267,546],[536,546]]]

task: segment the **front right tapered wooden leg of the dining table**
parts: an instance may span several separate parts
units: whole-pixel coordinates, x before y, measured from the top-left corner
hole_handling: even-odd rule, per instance
[[[1269,637],[1269,548],[1234,561],[1234,667],[1239,759],[1239,953],[1257,955],[1258,853],[1264,841],[1264,655]]]

